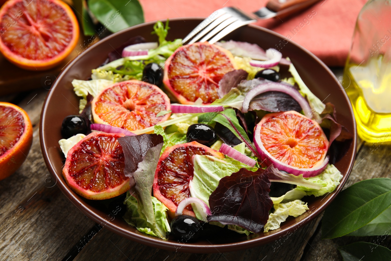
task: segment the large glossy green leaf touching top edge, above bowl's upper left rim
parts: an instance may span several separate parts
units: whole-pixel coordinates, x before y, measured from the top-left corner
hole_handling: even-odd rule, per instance
[[[111,32],[144,22],[143,9],[138,0],[88,0],[88,8]]]

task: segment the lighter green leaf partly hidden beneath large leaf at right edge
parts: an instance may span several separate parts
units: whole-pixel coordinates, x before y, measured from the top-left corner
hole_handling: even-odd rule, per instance
[[[346,236],[383,236],[391,235],[391,207],[374,220]]]

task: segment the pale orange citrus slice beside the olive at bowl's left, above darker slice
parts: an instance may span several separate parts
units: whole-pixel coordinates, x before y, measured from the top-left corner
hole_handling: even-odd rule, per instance
[[[167,120],[170,100],[159,87],[142,81],[122,81],[108,86],[91,103],[95,123],[126,130],[141,130]]]

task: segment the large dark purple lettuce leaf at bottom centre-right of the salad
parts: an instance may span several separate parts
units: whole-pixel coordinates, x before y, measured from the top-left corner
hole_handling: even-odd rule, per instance
[[[209,197],[212,216],[208,216],[208,221],[261,232],[273,207],[270,185],[264,169],[253,172],[242,168],[231,176],[225,176]]]

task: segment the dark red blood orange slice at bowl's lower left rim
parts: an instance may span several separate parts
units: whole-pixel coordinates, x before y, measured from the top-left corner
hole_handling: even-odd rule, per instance
[[[123,136],[93,132],[68,151],[63,176],[73,191],[90,200],[103,200],[130,189],[124,175],[124,152],[117,140]]]

